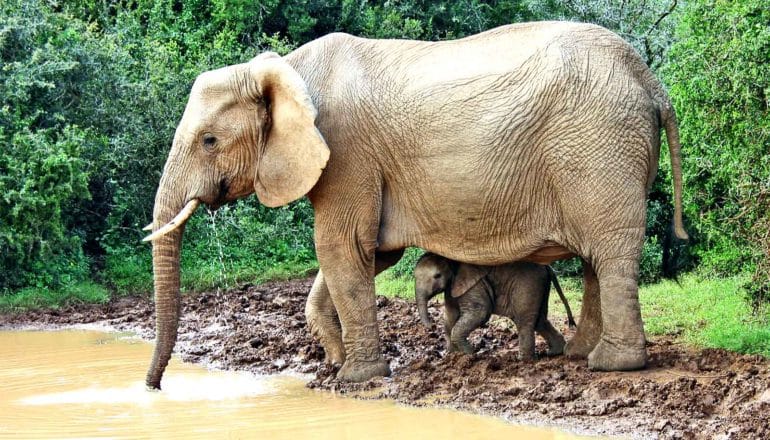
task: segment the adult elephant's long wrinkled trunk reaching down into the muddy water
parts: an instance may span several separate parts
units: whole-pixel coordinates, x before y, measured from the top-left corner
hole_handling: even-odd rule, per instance
[[[166,170],[168,171],[168,169]],[[177,193],[174,182],[169,182],[164,171],[155,197],[153,229],[157,232],[183,211],[184,196]],[[190,204],[188,203],[187,206]],[[196,203],[197,206],[197,203]],[[191,213],[190,213],[191,214]],[[178,217],[178,216],[177,216]],[[188,215],[189,217],[189,215]],[[184,219],[186,221],[186,218]],[[148,388],[160,389],[163,371],[171,358],[179,325],[179,257],[184,222],[173,230],[152,239],[152,268],[155,290],[155,351],[147,371]]]

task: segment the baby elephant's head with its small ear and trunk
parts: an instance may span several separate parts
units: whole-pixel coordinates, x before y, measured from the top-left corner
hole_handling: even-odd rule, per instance
[[[475,286],[489,272],[483,266],[460,264],[440,255],[427,253],[414,267],[414,297],[420,322],[430,326],[428,301],[441,292],[459,297]]]

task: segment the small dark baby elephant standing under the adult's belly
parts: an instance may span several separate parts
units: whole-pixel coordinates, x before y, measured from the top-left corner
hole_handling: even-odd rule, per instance
[[[444,329],[449,351],[473,353],[468,335],[484,325],[492,313],[513,319],[519,331],[519,356],[535,356],[535,331],[548,342],[548,354],[564,351],[564,337],[548,321],[548,295],[553,282],[567,309],[572,311],[549,266],[511,263],[478,266],[425,254],[414,268],[415,297],[420,320],[430,325],[428,300],[444,292]]]

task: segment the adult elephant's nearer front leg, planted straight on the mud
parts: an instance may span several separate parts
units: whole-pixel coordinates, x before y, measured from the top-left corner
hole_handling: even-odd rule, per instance
[[[374,243],[316,245],[318,261],[342,327],[341,380],[363,382],[390,375],[381,355],[374,295]]]

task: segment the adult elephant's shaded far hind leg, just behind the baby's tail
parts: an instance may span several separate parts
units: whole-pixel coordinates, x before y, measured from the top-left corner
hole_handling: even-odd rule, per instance
[[[565,354],[584,359],[599,343],[602,335],[602,312],[599,298],[599,279],[594,268],[583,260],[583,305],[575,336],[567,342]]]

